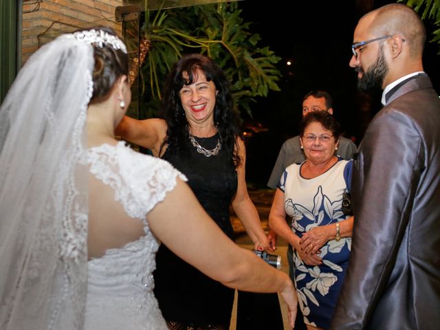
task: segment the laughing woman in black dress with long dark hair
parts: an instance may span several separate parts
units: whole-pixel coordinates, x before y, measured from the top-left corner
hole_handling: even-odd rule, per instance
[[[162,112],[164,119],[125,117],[117,133],[184,173],[203,208],[230,239],[232,205],[254,248],[267,248],[246,188],[245,146],[228,80],[217,64],[200,54],[181,58],[166,81]],[[208,278],[165,245],[156,261],[155,295],[170,329],[229,329],[233,289]]]

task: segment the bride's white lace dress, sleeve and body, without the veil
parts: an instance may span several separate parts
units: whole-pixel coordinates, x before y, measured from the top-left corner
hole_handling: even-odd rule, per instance
[[[145,236],[107,250],[88,263],[85,329],[167,329],[153,295],[153,270],[159,243],[145,215],[173,190],[176,177],[168,162],[131,150],[124,142],[88,152],[91,173],[115,190],[131,217],[144,223]]]

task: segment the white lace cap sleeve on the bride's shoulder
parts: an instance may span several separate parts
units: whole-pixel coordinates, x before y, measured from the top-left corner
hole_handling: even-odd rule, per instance
[[[90,172],[115,190],[115,200],[125,212],[145,224],[146,214],[175,188],[176,177],[187,181],[168,162],[137,153],[124,142],[89,149],[88,162]]]

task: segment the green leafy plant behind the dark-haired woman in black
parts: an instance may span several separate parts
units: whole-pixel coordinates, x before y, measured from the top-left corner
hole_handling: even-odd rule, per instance
[[[250,32],[250,24],[235,2],[145,12],[142,38],[149,47],[140,68],[140,117],[157,113],[166,74],[182,54],[193,52],[219,64],[231,82],[237,109],[252,115],[254,97],[279,90],[276,63],[281,58],[259,46],[261,38]]]

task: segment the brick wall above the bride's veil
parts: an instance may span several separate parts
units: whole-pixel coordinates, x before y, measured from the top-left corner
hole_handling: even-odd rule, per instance
[[[61,33],[106,25],[121,33],[115,8],[123,0],[23,0],[22,63]]]

